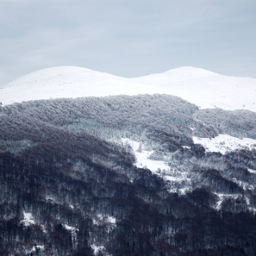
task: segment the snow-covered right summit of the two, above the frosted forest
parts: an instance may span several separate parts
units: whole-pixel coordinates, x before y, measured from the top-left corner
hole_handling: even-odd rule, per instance
[[[182,67],[134,78],[133,82],[176,95],[201,108],[244,109],[256,112],[256,79],[219,75],[201,68]]]

